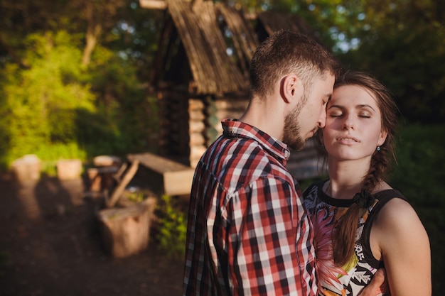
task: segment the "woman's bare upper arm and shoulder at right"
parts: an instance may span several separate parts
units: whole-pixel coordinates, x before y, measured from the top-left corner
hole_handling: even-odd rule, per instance
[[[403,199],[385,204],[371,230],[392,296],[431,295],[429,238],[414,209]],[[377,255],[378,256],[378,255]],[[377,258],[376,256],[376,258]]]

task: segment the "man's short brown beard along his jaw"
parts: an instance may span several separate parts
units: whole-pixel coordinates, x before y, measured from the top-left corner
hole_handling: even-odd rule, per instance
[[[298,121],[304,104],[306,104],[306,96],[301,98],[299,104],[297,104],[295,108],[284,118],[283,143],[286,143],[289,148],[294,150],[304,148],[306,142],[305,139],[301,137],[300,125]]]

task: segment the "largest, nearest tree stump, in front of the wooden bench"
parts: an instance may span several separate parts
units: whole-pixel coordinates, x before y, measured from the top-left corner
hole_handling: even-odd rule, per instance
[[[102,209],[98,218],[106,251],[124,258],[146,249],[155,207],[156,198],[149,197],[129,207]]]

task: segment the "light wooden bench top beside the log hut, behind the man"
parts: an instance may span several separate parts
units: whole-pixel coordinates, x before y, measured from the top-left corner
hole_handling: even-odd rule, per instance
[[[130,162],[139,161],[146,169],[146,183],[154,191],[168,195],[190,194],[195,169],[153,153],[129,154]]]

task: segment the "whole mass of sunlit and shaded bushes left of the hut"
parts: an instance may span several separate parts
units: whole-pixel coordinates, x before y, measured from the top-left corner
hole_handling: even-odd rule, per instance
[[[65,31],[28,35],[26,67],[2,64],[0,170],[26,154],[36,154],[52,175],[60,158],[156,148],[156,99],[147,97],[136,67],[100,46],[84,67],[73,38]]]

